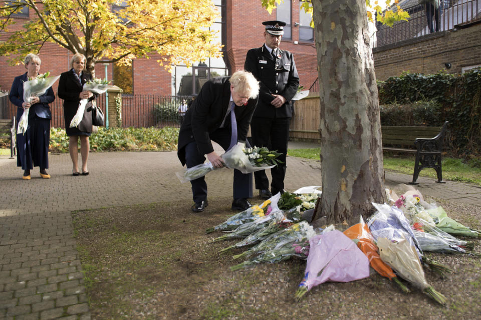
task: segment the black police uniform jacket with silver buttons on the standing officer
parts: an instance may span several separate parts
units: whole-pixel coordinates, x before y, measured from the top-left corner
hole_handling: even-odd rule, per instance
[[[259,103],[254,116],[266,118],[292,117],[289,101],[299,87],[299,75],[292,53],[277,48],[277,58],[274,59],[264,44],[260,48],[250,49],[247,52],[244,68],[246,71],[252,72],[256,79],[261,82]],[[284,96],[286,103],[279,108],[275,108],[271,104],[271,101],[274,100],[272,94]]]

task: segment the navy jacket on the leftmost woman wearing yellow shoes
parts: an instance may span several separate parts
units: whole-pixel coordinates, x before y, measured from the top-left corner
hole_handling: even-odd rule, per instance
[[[20,117],[24,113],[24,108],[22,107],[22,103],[24,103],[24,82],[27,81],[27,72],[22,75],[16,76],[14,79],[14,83],[12,83],[12,88],[10,89],[9,98],[13,104],[17,105],[17,121],[20,120]],[[54,90],[52,87],[47,89],[47,92],[41,96],[39,96],[40,102],[35,103],[30,107],[30,114],[35,112],[35,114],[40,118],[51,119],[52,112],[50,111],[50,107],[48,103],[51,103],[55,100]]]

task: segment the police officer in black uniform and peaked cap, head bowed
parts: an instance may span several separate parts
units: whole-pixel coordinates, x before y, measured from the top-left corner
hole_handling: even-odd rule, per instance
[[[252,72],[261,82],[259,103],[251,122],[252,141],[256,146],[266,146],[282,153],[277,166],[271,169],[272,182],[265,170],[254,172],[256,189],[259,195],[268,199],[272,194],[284,192],[286,175],[287,141],[289,140],[289,123],[292,110],[289,101],[299,87],[299,75],[291,52],[281,50],[281,38],[284,34],[283,21],[265,21],[264,37],[266,43],[260,48],[247,52],[244,68]]]

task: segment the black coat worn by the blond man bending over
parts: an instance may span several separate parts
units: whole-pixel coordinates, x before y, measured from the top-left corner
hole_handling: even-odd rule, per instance
[[[205,82],[192,105],[185,113],[180,126],[177,155],[185,164],[184,146],[195,141],[202,154],[212,152],[212,142],[209,133],[220,127],[229,107],[230,82],[229,76],[215,77]],[[245,141],[252,114],[256,109],[258,99],[249,99],[247,105],[235,107],[237,122],[237,140]]]

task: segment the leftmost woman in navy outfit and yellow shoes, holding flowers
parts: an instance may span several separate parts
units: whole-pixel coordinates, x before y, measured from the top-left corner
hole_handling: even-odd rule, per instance
[[[17,127],[24,110],[30,108],[27,131],[25,134],[17,134],[17,166],[21,166],[24,170],[22,176],[24,180],[31,179],[30,170],[34,166],[40,167],[40,175],[43,178],[50,178],[46,170],[49,168],[50,120],[52,119],[49,103],[55,100],[54,91],[50,87],[45,94],[32,97],[30,103],[24,101],[24,82],[29,77],[34,78],[39,74],[40,63],[38,55],[27,54],[25,57],[27,72],[15,77],[9,93],[10,101],[18,107]]]

